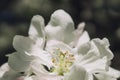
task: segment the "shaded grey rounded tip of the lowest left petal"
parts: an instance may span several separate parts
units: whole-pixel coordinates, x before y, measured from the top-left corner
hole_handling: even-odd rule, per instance
[[[24,57],[24,56],[23,56]],[[24,60],[20,57],[20,54],[15,52],[9,55],[8,64],[9,66],[18,72],[27,71],[30,68],[29,60]]]

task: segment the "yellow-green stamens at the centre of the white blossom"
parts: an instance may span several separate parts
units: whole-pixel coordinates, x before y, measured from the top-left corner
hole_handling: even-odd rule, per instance
[[[51,68],[51,72],[57,72],[58,75],[62,76],[64,73],[69,72],[69,69],[75,60],[74,55],[68,51],[62,52],[60,49],[56,49],[55,52],[53,52],[53,55],[53,68]]]

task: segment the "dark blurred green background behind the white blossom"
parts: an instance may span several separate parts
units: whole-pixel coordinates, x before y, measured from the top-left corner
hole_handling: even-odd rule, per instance
[[[48,23],[57,9],[68,12],[77,26],[85,21],[91,38],[107,37],[115,57],[112,66],[120,70],[120,0],[0,0],[0,65],[14,52],[15,35],[28,35],[33,15]]]

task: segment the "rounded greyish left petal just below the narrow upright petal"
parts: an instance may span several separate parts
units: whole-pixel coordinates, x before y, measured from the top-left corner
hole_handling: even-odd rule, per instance
[[[39,43],[39,44],[41,44],[41,43]],[[36,52],[39,49],[40,50],[42,49],[39,47],[38,43],[36,43],[32,39],[30,39],[29,37],[24,37],[24,36],[15,36],[14,40],[13,40],[13,46],[19,53],[21,53],[21,55],[36,54]]]

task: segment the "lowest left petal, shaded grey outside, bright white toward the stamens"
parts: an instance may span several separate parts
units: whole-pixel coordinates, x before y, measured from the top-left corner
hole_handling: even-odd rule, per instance
[[[36,54],[32,55],[29,55],[27,53],[25,55],[21,55],[20,53],[16,52],[9,55],[8,60],[10,67],[19,72],[29,70],[32,65],[37,64],[36,62],[39,62],[38,65],[46,65],[48,68],[52,66],[51,56],[44,51],[40,51],[39,53],[36,52]],[[35,67],[37,69],[39,68],[38,66]]]

